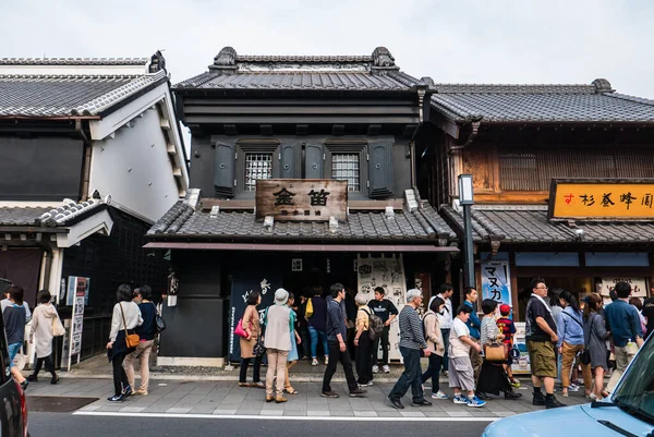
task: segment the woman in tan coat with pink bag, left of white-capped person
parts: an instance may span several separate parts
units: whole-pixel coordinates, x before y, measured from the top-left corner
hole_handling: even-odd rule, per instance
[[[239,376],[240,387],[256,387],[266,388],[262,383],[261,368],[262,360],[264,356],[254,356],[253,349],[256,344],[257,339],[262,335],[262,325],[259,323],[257,305],[262,303],[262,295],[258,291],[252,291],[247,294],[247,306],[245,313],[243,313],[243,330],[247,333],[247,338],[241,337],[241,372]],[[252,366],[252,379],[253,383],[247,383],[247,366],[254,359],[254,365]]]

